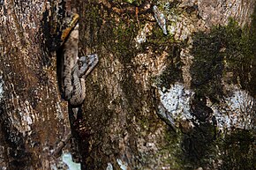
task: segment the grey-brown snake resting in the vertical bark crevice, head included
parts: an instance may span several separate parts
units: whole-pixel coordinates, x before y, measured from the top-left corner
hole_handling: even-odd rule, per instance
[[[64,99],[72,106],[79,106],[85,100],[85,78],[98,63],[98,55],[86,55],[79,57],[79,24],[64,42],[63,51],[63,91]]]

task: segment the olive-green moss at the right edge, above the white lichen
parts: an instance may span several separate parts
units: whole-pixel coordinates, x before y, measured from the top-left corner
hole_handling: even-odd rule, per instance
[[[226,55],[226,71],[233,72],[230,81],[239,84],[243,89],[255,96],[256,83],[256,25],[255,18],[252,19],[252,26],[241,30],[234,20],[230,21],[227,33],[232,37],[227,43],[224,51]]]

